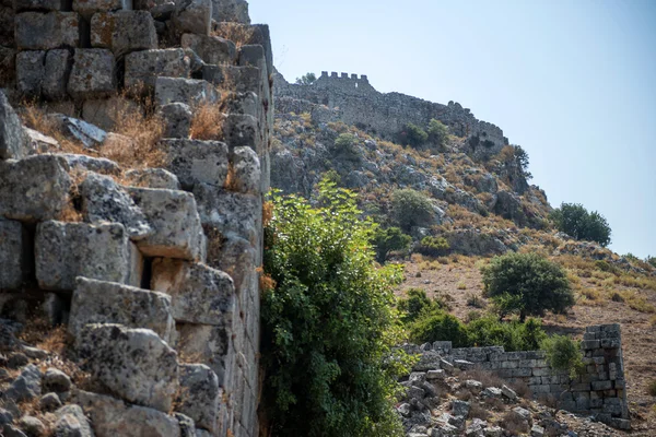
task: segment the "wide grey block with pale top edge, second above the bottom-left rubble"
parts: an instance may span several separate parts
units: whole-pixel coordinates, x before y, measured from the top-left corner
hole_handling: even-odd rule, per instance
[[[169,296],[79,276],[71,303],[69,331],[78,336],[89,323],[145,328],[167,343],[171,343],[171,334],[175,329]]]

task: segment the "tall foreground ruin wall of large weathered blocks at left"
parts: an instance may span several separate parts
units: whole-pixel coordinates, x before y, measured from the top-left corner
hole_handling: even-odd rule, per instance
[[[211,36],[225,29],[241,40]],[[112,394],[70,400],[98,437],[258,434],[272,71],[244,0],[0,2],[0,318],[36,308],[68,327]],[[52,151],[4,97],[59,113],[98,150],[122,92],[163,116],[163,168]],[[190,140],[198,108],[219,103],[223,141]],[[73,203],[80,222],[62,218]]]

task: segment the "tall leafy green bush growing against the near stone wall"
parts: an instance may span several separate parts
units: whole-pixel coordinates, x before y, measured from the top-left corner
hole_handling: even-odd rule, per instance
[[[262,295],[262,406],[272,436],[402,436],[393,398],[405,371],[393,307],[400,269],[376,269],[375,225],[323,180],[317,206],[273,194]],[[400,354],[395,352],[394,354]]]

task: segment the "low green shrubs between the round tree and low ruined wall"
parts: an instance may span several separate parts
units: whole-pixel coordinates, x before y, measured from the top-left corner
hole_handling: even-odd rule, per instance
[[[535,351],[547,338],[539,319],[529,318],[525,323],[500,321],[493,315],[479,317],[467,323],[469,344],[472,346],[504,346],[506,352]]]

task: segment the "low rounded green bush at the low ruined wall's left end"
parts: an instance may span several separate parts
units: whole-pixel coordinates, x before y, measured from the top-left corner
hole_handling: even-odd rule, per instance
[[[410,324],[410,341],[421,344],[434,341],[450,341],[454,347],[468,347],[466,326],[457,317],[434,310],[423,312]]]

